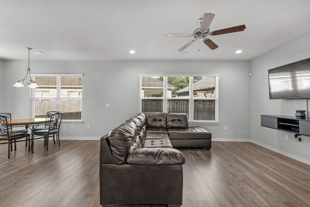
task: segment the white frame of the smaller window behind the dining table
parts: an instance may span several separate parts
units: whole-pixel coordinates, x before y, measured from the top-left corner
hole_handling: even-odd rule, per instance
[[[81,76],[83,77],[84,74],[78,73],[78,74],[72,74],[72,73],[35,73],[31,74],[31,79],[35,81],[36,76],[52,76],[56,77],[57,82],[56,82],[56,97],[43,97],[47,99],[55,99],[56,101],[56,106],[55,106],[55,111],[61,111],[61,78],[62,77],[68,77],[68,76]],[[30,88],[30,96],[29,96],[29,117],[34,118],[34,102],[35,102],[35,88]],[[83,93],[83,80],[82,80],[82,93]],[[70,119],[70,120],[64,120],[62,119],[62,123],[83,123],[83,95],[82,97],[73,97],[73,98],[65,98],[65,99],[81,99],[81,119]]]

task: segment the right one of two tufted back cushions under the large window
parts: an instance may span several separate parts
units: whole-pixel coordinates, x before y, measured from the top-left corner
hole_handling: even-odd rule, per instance
[[[167,128],[188,128],[186,113],[167,113]]]

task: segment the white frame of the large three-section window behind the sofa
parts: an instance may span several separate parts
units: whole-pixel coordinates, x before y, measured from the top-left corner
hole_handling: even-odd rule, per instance
[[[151,77],[163,77],[163,97],[142,97],[142,77],[151,76]],[[168,77],[189,77],[189,97],[168,97]],[[194,77],[216,77],[215,97],[193,97],[193,84]],[[189,101],[188,106],[188,121],[189,123],[220,123],[218,113],[218,102],[219,102],[219,93],[218,93],[218,83],[219,83],[220,74],[139,74],[139,111],[142,111],[142,100],[143,99],[162,99],[163,100],[163,112],[168,111],[168,99],[186,99]],[[193,120],[194,119],[194,100],[215,100],[215,120]]]

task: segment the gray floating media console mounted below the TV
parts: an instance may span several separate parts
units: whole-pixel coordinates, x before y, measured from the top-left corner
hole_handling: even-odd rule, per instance
[[[261,115],[261,126],[310,136],[310,119],[285,115]]]

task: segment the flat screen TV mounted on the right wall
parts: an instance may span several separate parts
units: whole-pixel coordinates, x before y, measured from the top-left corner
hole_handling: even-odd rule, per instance
[[[310,58],[268,70],[269,98],[310,98]]]

